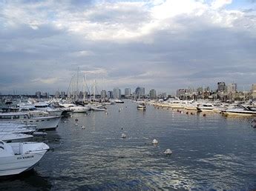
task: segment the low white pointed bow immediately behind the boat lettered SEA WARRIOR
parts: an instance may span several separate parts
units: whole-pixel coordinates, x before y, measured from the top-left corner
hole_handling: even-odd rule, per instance
[[[31,141],[32,138],[33,135],[27,135],[23,133],[0,132],[0,141],[6,141],[7,143]]]

